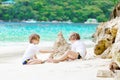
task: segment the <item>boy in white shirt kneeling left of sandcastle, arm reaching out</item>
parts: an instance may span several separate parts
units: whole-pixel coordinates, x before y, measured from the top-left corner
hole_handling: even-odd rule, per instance
[[[32,34],[29,37],[29,46],[27,47],[23,59],[22,59],[22,64],[41,64],[43,63],[42,60],[39,60],[36,56],[37,52],[41,53],[53,53],[54,51],[44,51],[40,50],[38,47],[38,44],[40,42],[40,36],[38,34]]]

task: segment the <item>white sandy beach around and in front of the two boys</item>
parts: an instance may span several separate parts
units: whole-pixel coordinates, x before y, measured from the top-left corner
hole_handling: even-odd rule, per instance
[[[98,70],[108,70],[111,60],[95,58],[93,43],[87,44],[88,54],[85,60],[23,66],[21,58],[27,45],[27,43],[0,45],[0,78],[2,80],[113,80],[96,77]],[[41,42],[40,45],[42,49],[50,49],[53,42]],[[47,59],[48,56],[49,54],[38,54],[42,60]]]

